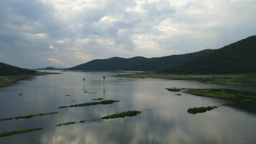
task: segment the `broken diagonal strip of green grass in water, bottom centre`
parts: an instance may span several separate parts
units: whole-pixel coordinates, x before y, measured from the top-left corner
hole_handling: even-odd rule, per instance
[[[147,110],[150,110],[150,109],[147,109]],[[87,119],[79,122],[60,123],[60,124],[56,124],[56,126],[69,125],[69,124],[75,124],[75,123],[84,123],[89,121],[100,121],[100,120],[112,119],[112,118],[134,117],[134,116],[137,116],[139,113],[141,113],[141,111],[126,111],[121,113],[115,113],[113,115],[104,116],[102,118]]]

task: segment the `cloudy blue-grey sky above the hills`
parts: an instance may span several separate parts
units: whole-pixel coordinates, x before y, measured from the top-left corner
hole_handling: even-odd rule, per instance
[[[9,0],[0,62],[73,67],[92,59],[219,49],[256,35],[255,0]]]

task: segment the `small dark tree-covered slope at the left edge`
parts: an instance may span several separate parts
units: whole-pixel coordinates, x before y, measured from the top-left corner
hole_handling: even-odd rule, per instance
[[[0,75],[29,75],[36,73],[36,70],[22,69],[0,62]]]

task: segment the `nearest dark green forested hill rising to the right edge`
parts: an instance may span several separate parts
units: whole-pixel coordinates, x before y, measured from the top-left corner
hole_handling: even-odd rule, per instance
[[[256,35],[207,55],[158,71],[165,74],[256,74]]]

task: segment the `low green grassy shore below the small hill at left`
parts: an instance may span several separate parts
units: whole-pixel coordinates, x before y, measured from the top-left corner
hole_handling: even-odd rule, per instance
[[[4,75],[4,76],[0,76],[0,87],[8,87],[11,84],[17,82],[17,81],[21,81],[21,80],[25,80],[28,79],[30,77],[33,76],[39,76],[39,75],[51,75],[51,74],[61,74],[61,73],[48,73],[48,72],[39,72],[37,71],[34,74],[31,75]]]

